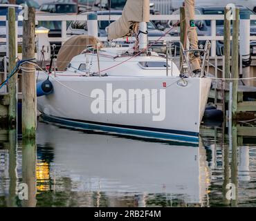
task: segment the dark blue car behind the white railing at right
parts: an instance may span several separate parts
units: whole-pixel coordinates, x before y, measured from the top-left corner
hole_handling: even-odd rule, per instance
[[[244,6],[237,6],[240,9],[240,15],[242,13],[249,13],[250,15],[254,15],[255,12],[253,12],[252,10],[244,7]],[[194,12],[195,15],[223,15],[224,14],[224,8],[225,6],[222,7],[216,7],[216,6],[201,6],[201,7],[196,7]],[[172,15],[179,15],[179,10],[176,10],[172,13]],[[168,21],[167,23],[167,28],[165,29],[165,31],[170,30],[170,28],[174,25],[174,23],[176,23],[177,21]],[[196,24],[196,30],[197,30],[197,34],[198,36],[210,36],[211,35],[211,27],[210,27],[210,20],[197,20],[195,21]],[[217,20],[216,21],[216,32],[217,35],[219,36],[223,36],[223,25],[224,25],[224,21],[223,20]],[[232,31],[232,27],[231,27],[231,31]],[[170,32],[171,36],[179,36],[180,35],[180,28],[174,28],[171,32]],[[256,21],[250,21],[250,35],[256,35]],[[199,41],[199,44],[204,44],[205,41]],[[223,55],[223,41],[216,41],[217,44],[217,48],[216,48],[216,53],[218,56]],[[176,46],[179,46],[179,43],[175,44]],[[251,43],[251,52],[252,55],[256,55],[253,54],[253,50],[254,44]]]

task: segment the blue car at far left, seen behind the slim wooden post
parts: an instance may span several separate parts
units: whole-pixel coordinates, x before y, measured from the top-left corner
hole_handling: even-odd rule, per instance
[[[19,15],[19,12],[21,12],[22,7],[19,5],[12,5],[12,4],[0,4],[0,16],[6,16],[8,13],[8,7],[13,7],[15,8],[16,14]],[[0,39],[1,38],[6,38],[6,21],[0,21]],[[23,26],[22,26],[22,21],[18,21],[18,29],[17,29],[17,35],[18,37],[22,37],[23,33]],[[18,46],[21,47],[21,43],[18,42]],[[0,56],[5,56],[6,55],[6,42],[0,42]]]

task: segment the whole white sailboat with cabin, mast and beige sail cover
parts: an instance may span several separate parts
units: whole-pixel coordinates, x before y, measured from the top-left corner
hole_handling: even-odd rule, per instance
[[[211,80],[181,78],[173,61],[148,51],[147,6],[148,0],[128,0],[122,17],[108,28],[113,39],[138,27],[138,44],[86,48],[64,71],[51,75],[53,93],[37,99],[44,119],[111,133],[199,142]]]

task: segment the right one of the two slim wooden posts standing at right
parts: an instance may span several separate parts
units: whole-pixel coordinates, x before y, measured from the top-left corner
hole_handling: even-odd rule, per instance
[[[239,8],[235,10],[235,19],[232,21],[232,65],[231,65],[231,76],[232,78],[239,78]],[[237,115],[237,91],[238,91],[238,80],[233,81],[232,92],[232,115]]]

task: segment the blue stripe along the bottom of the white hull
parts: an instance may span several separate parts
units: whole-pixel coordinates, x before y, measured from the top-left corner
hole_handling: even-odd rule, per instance
[[[163,133],[159,131],[154,131],[154,128],[152,128],[152,131],[149,131],[149,130],[143,130],[140,127],[136,129],[136,126],[133,126],[133,128],[127,128],[125,125],[112,126],[111,124],[109,124],[109,126],[107,126],[106,124],[102,125],[101,123],[98,123],[98,122],[93,122],[93,123],[82,122],[82,121],[77,121],[75,119],[53,117],[45,114],[42,114],[42,118],[48,122],[64,124],[66,126],[71,126],[74,128],[83,128],[86,130],[108,131],[111,133],[133,135],[137,137],[150,137],[150,138],[157,138],[161,140],[177,140],[177,141],[183,141],[183,142],[192,142],[196,144],[199,143],[199,135],[196,136],[196,134],[198,133],[194,133],[195,136],[192,136],[192,135],[188,135],[190,134],[190,132],[188,131],[175,131],[175,132],[172,131],[172,133]]]

